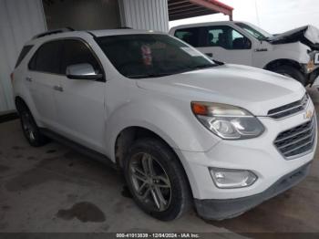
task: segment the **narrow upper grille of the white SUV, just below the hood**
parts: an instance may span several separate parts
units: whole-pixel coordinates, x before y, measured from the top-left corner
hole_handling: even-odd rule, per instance
[[[273,119],[280,119],[283,117],[287,117],[293,115],[299,111],[302,111],[306,108],[309,101],[309,95],[305,94],[303,99],[294,101],[293,103],[271,109],[268,111],[268,116]]]

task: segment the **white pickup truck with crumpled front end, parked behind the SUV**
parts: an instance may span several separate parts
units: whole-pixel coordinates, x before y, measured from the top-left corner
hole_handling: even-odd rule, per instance
[[[215,60],[268,69],[304,86],[319,76],[319,30],[314,26],[273,36],[249,23],[226,21],[176,26],[170,35]]]

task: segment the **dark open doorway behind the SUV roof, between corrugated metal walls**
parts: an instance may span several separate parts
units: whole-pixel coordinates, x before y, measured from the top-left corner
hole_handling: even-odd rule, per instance
[[[70,26],[76,30],[94,30],[120,26],[117,0],[44,0],[43,5],[48,29]]]

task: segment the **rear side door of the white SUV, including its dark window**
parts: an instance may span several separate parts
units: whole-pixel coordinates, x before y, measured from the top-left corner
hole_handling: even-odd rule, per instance
[[[48,129],[57,129],[57,106],[54,88],[63,76],[60,74],[61,41],[49,41],[40,46],[31,58],[26,84],[41,123]]]

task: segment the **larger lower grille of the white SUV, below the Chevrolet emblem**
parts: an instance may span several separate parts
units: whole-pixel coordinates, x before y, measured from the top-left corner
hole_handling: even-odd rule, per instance
[[[315,124],[314,116],[302,125],[281,132],[274,140],[274,145],[287,159],[311,151],[315,141]]]

